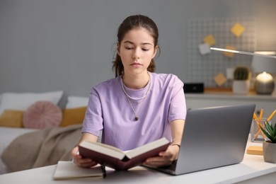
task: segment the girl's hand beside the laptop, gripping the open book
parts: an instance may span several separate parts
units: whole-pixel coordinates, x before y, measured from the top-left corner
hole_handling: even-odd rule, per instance
[[[146,159],[142,164],[148,166],[169,166],[173,161],[178,159],[179,146],[171,145],[168,146],[166,151],[161,151],[159,156],[154,156]]]

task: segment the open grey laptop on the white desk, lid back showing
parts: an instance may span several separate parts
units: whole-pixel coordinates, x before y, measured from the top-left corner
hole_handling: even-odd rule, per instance
[[[178,160],[146,167],[180,175],[240,163],[254,110],[254,104],[188,110]]]

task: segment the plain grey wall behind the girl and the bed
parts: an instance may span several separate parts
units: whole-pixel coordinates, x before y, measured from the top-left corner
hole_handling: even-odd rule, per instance
[[[189,18],[256,16],[257,49],[275,50],[275,10],[273,0],[0,0],[0,93],[88,96],[91,86],[114,77],[117,26],[135,13],[159,26],[156,72],[188,82]]]

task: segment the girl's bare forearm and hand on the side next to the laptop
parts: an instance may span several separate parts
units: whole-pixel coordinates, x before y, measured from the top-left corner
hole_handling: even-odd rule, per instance
[[[168,166],[172,161],[178,159],[179,146],[182,139],[185,120],[173,120],[171,122],[172,143],[166,151],[159,153],[159,156],[146,159],[143,164],[150,166]]]

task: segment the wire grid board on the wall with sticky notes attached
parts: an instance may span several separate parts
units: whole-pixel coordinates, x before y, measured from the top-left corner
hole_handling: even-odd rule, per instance
[[[235,23],[240,23],[245,29],[236,37],[231,33]],[[235,54],[226,57],[223,52],[212,50],[209,54],[200,54],[198,46],[204,43],[207,35],[213,35],[216,40],[212,47],[225,48],[226,45],[236,47],[237,50],[253,52],[256,47],[255,18],[196,18],[188,22],[188,81],[203,82],[206,87],[217,87],[214,76],[219,73],[226,76],[226,69],[243,65],[251,68],[252,56]],[[222,87],[230,87],[227,81]]]

